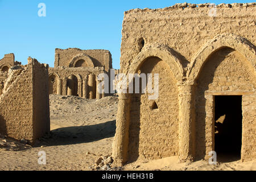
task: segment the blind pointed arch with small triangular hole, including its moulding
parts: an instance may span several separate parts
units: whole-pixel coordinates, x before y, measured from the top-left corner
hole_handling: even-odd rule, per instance
[[[127,143],[127,158],[130,161],[139,158],[159,159],[178,154],[179,91],[177,82],[180,82],[184,76],[182,64],[184,59],[180,57],[174,49],[162,44],[144,46],[130,64],[129,71],[126,72],[128,76],[134,73],[158,73],[159,75],[158,96],[154,98],[154,101],[148,98],[147,93],[137,94],[127,90],[130,96],[127,97],[129,101],[125,102],[125,107],[129,108],[130,110],[126,111],[133,115],[129,118],[128,129],[129,135],[133,138],[129,139],[129,143]],[[141,78],[143,80],[143,77]],[[129,81],[132,80],[129,79]],[[142,81],[139,83],[139,87],[143,88]],[[131,82],[129,82],[130,84]],[[132,84],[135,85],[135,81]],[[133,88],[135,87],[133,86]],[[170,103],[172,104],[170,105]],[[165,117],[160,117],[161,114]],[[160,134],[158,131],[163,125],[165,127]],[[172,132],[170,133],[170,131]],[[150,132],[159,134],[152,139],[152,144],[147,142],[151,139]],[[163,139],[160,135],[168,135],[168,139]],[[160,150],[164,142],[175,144]],[[155,151],[154,154],[151,151]]]

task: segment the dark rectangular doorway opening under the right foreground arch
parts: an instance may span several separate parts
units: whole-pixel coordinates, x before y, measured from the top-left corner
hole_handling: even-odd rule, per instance
[[[215,96],[214,150],[217,159],[241,159],[242,96]]]

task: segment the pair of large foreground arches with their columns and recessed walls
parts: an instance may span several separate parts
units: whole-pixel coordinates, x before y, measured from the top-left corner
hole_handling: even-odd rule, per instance
[[[164,45],[143,47],[127,71],[159,73],[159,97],[152,101],[148,100],[147,93],[119,96],[119,105],[124,107],[118,107],[113,145],[117,162],[172,155],[179,156],[181,161],[208,158],[217,135],[215,98],[233,95],[247,100],[255,96],[256,49],[244,38],[228,34],[216,36],[197,53],[187,72],[182,60],[171,50]],[[157,109],[152,109],[155,104]],[[240,154],[245,160],[251,158],[245,147],[253,144],[246,142],[244,132],[255,126],[248,122],[255,119],[252,113],[256,99],[250,104],[250,111],[241,121]]]

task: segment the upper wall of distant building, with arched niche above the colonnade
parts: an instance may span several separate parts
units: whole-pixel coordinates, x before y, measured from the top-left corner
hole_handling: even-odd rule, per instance
[[[89,57],[87,57],[89,56]],[[78,59],[76,60],[76,57]],[[80,58],[85,60],[90,59],[93,62],[93,67],[104,67],[105,71],[109,71],[112,68],[112,56],[107,50],[93,49],[93,50],[81,50],[78,48],[68,49],[55,49],[55,64],[54,67],[65,66],[65,67],[88,67],[86,63],[79,63]],[[73,63],[72,60],[76,60]],[[77,65],[76,65],[77,64]],[[85,65],[82,65],[85,64]]]

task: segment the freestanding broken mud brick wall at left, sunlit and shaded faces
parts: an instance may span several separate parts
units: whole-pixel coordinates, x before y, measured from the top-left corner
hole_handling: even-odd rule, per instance
[[[0,133],[33,144],[49,132],[47,69],[31,58],[11,68],[0,96]]]

